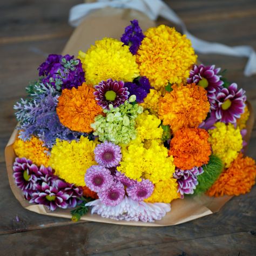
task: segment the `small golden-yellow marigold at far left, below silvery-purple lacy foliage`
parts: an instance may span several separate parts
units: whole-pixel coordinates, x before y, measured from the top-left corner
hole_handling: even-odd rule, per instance
[[[29,158],[38,166],[49,166],[49,149],[44,147],[42,140],[37,137],[31,137],[26,141],[17,138],[13,147],[18,157]]]

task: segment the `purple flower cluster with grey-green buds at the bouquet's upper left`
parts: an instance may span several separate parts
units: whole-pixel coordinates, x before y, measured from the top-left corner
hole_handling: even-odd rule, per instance
[[[70,55],[50,54],[39,68],[43,83],[50,83],[57,90],[72,89],[85,81],[82,63]]]

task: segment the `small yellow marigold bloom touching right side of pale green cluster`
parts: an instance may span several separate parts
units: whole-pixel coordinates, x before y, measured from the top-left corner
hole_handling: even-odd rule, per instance
[[[163,135],[163,129],[160,124],[161,120],[153,114],[149,114],[149,111],[139,114],[136,118],[137,138],[142,142],[146,139],[160,139]]]

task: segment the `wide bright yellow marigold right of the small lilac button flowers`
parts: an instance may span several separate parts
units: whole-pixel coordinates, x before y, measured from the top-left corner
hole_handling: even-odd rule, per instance
[[[173,157],[168,157],[167,149],[161,143],[156,140],[149,142],[144,145],[138,140],[133,140],[129,146],[123,146],[123,158],[117,170],[138,181],[144,178],[157,183],[170,179],[175,171]]]

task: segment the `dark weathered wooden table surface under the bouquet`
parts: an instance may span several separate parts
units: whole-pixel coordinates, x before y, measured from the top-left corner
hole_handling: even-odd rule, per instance
[[[256,187],[234,197],[218,213],[170,227],[72,223],[39,215],[13,196],[4,146],[16,125],[12,106],[37,78],[37,66],[60,53],[72,28],[69,0],[0,2],[0,255],[256,255]],[[255,0],[172,0],[167,2],[199,38],[256,49]],[[161,20],[159,22],[162,22]],[[256,110],[256,76],[245,77],[245,58],[199,55],[205,64],[228,69],[227,78],[247,91]],[[256,158],[256,130],[247,154]]]

